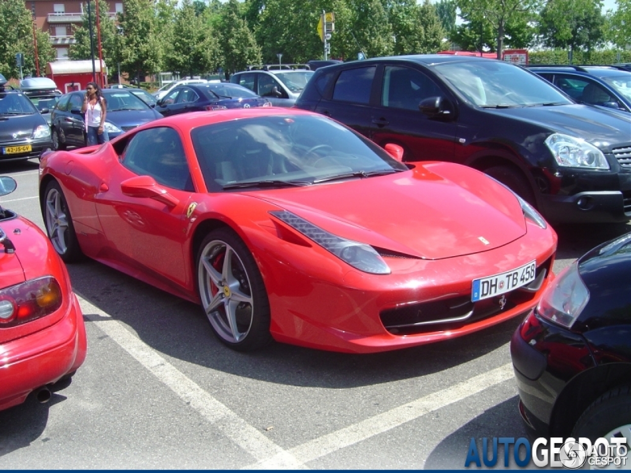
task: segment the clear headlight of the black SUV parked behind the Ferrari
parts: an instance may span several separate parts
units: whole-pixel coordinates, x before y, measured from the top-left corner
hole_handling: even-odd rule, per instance
[[[553,133],[546,138],[545,143],[559,166],[609,169],[603,152],[584,139]]]

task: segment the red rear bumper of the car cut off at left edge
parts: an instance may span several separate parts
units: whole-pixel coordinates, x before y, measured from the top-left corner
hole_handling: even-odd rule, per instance
[[[64,317],[44,330],[0,345],[0,410],[75,371],[86,356],[83,314],[76,296]]]

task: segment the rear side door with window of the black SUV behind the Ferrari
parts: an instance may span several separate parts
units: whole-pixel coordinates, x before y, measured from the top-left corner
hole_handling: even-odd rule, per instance
[[[343,69],[327,95],[315,107],[315,112],[331,117],[355,131],[370,137],[372,131],[373,79],[377,66]]]

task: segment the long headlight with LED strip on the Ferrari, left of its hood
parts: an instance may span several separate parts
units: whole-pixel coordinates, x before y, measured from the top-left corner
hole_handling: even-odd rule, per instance
[[[370,274],[391,272],[386,262],[370,245],[333,235],[288,211],[275,211],[270,214],[360,271]]]

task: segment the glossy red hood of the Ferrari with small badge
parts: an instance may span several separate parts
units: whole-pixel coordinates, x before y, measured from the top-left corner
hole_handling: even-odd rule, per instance
[[[480,172],[451,163],[247,194],[339,237],[426,259],[479,253],[526,233],[512,192]]]

